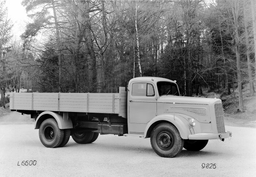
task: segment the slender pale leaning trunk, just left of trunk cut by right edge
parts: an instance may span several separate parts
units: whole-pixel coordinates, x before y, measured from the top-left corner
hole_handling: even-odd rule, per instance
[[[244,0],[245,3],[245,0]],[[250,53],[249,53],[249,39],[248,39],[248,30],[247,30],[247,20],[245,19],[246,17],[246,10],[244,8],[244,3],[243,3],[243,11],[244,11],[244,29],[245,29],[245,52],[247,56],[247,66],[248,66],[248,76],[249,76],[249,86],[250,86],[250,95],[252,96],[255,91],[253,88],[253,78],[252,78],[252,68],[251,68],[251,59],[250,59]]]

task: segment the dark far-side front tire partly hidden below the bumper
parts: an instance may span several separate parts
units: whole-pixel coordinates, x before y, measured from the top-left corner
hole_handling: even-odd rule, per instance
[[[207,143],[208,140],[184,140],[184,148],[188,151],[200,151]]]

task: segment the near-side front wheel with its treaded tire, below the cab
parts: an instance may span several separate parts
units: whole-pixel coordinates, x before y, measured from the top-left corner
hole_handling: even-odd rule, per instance
[[[168,158],[175,157],[184,146],[178,129],[170,123],[155,126],[151,132],[150,142],[157,155]]]

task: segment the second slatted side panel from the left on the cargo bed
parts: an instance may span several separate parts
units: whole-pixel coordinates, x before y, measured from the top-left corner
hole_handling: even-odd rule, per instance
[[[33,93],[33,110],[58,111],[59,93]]]

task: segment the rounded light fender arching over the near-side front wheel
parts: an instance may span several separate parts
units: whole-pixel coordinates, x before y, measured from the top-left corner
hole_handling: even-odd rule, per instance
[[[151,121],[147,123],[147,126],[144,131],[144,138],[147,138],[148,131],[152,131],[155,125],[157,125],[158,122],[161,123],[162,121],[167,121],[172,123],[180,132],[180,136],[182,139],[188,139],[188,135],[191,134],[189,130],[189,124],[188,121],[185,120],[184,117],[180,115],[173,115],[170,114],[161,114],[159,116],[154,117]]]

